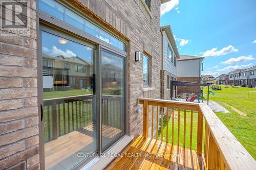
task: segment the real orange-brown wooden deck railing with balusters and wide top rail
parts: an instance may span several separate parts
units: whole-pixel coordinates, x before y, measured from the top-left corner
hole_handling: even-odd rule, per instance
[[[196,150],[204,158],[205,169],[255,169],[253,157],[207,105],[147,98],[139,98],[139,103],[143,104],[144,138],[151,135]],[[151,134],[148,134],[150,127]]]

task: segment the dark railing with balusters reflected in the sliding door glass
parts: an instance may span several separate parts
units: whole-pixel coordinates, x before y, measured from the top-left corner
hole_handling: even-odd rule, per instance
[[[95,108],[94,95],[44,100],[45,142],[92,124]],[[119,96],[102,95],[102,124],[120,129],[121,109]]]

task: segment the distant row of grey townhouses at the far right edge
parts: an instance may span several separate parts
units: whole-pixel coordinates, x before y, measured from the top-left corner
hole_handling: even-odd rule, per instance
[[[247,69],[236,69],[230,71],[227,75],[229,76],[228,84],[234,84],[236,86],[251,85],[256,86],[256,66],[252,66]]]

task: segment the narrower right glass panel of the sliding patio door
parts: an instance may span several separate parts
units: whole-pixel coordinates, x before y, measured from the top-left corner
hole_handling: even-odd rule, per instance
[[[101,51],[102,148],[105,150],[125,133],[125,62],[124,58]]]

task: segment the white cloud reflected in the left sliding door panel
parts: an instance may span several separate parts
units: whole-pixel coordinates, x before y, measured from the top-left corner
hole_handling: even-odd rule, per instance
[[[42,47],[42,51],[43,52],[46,52],[46,53],[49,53],[51,56],[53,57],[56,57],[56,56],[63,56],[63,57],[75,57],[76,54],[73,53],[71,50],[65,50],[65,51],[62,51],[61,49],[57,48],[56,46],[52,46],[51,49],[43,46]]]

